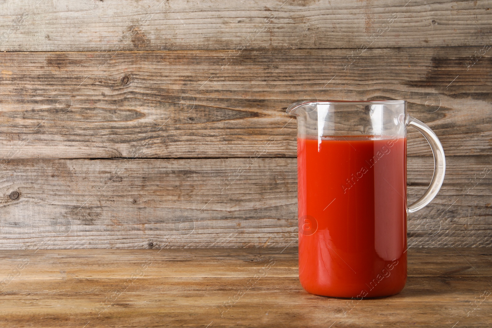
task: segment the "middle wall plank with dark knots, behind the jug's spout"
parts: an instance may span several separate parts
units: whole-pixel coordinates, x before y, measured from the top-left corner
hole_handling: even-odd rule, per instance
[[[492,60],[466,66],[479,50],[369,49],[345,69],[346,49],[0,53],[0,157],[295,157],[285,109],[308,98],[405,99],[446,155],[491,155]],[[419,136],[410,154],[430,155]]]

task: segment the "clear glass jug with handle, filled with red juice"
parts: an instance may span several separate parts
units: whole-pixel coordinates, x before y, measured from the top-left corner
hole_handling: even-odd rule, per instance
[[[406,282],[406,216],[442,185],[437,136],[406,113],[406,101],[297,102],[299,279],[322,296],[374,298]],[[431,145],[434,175],[407,207],[406,128]]]

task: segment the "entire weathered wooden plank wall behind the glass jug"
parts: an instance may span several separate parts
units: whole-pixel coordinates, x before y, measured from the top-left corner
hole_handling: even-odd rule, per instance
[[[300,99],[408,100],[409,245],[492,246],[491,8],[0,1],[0,248],[295,245]]]

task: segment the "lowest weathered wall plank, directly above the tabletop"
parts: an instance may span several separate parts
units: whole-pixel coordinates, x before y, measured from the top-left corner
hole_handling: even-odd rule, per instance
[[[11,160],[0,176],[0,248],[285,247],[297,242],[296,165],[261,157]],[[448,158],[438,196],[408,218],[408,244],[491,246],[491,166],[487,156]],[[409,201],[431,173],[431,158],[408,158]]]

